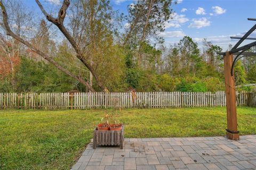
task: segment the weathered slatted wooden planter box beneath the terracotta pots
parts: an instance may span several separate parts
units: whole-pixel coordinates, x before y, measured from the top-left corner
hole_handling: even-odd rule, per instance
[[[124,147],[124,125],[121,131],[99,131],[97,128],[93,132],[93,149],[97,146],[120,146]]]

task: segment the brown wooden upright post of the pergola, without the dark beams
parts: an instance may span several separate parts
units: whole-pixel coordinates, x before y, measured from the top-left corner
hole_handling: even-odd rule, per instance
[[[231,75],[231,66],[233,63],[233,54],[226,52],[224,59],[225,87],[226,87],[226,104],[227,104],[227,122],[228,129],[226,135],[228,139],[238,140],[239,132],[237,131],[237,113],[236,113],[236,89],[235,76]]]

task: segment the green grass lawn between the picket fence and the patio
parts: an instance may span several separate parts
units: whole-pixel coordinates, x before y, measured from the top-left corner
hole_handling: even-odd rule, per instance
[[[0,169],[69,169],[105,112],[0,111]],[[237,112],[241,134],[256,134],[256,108]],[[126,109],[118,119],[126,138],[223,136],[227,125],[225,107]]]

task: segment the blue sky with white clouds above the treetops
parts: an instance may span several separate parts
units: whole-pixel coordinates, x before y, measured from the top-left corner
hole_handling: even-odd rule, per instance
[[[230,36],[242,36],[249,30],[255,21],[247,18],[256,18],[256,0],[175,0],[173,4],[173,20],[166,23],[166,30],[162,33],[165,44],[178,43],[187,35],[196,41],[199,46],[203,38],[212,41],[226,50],[228,44],[235,44]],[[34,1],[25,1],[35,5]],[[51,5],[60,4],[61,0],[42,0]],[[111,0],[111,5],[119,12],[127,13],[127,6],[133,0]],[[35,8],[37,8],[35,6]],[[253,33],[256,37],[256,32]],[[250,43],[247,40],[246,43]]]

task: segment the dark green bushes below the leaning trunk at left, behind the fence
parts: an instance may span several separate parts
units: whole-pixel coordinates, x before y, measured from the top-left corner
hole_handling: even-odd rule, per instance
[[[76,81],[44,62],[21,58],[17,71],[17,92],[66,92],[77,89]]]

